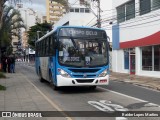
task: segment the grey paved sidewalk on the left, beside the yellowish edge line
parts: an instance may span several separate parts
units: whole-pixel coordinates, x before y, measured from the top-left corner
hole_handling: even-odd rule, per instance
[[[6,87],[5,91],[0,91],[0,111],[57,111],[23,74],[6,73],[5,75],[6,79],[0,79],[0,84]],[[11,120],[10,118],[1,119]],[[13,120],[16,119],[18,118]],[[39,119],[30,118],[30,120]],[[58,119],[54,118],[54,120]],[[60,119],[65,120],[65,118]],[[53,118],[46,117],[41,120],[53,120]]]

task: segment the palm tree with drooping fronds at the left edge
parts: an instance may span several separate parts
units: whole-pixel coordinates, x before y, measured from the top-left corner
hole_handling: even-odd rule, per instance
[[[17,30],[22,27],[25,28],[25,26],[19,11],[13,7],[5,7],[2,22],[0,29],[1,47],[10,48],[12,36],[20,37]]]

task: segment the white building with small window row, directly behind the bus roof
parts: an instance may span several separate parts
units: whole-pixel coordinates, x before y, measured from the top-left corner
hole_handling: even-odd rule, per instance
[[[87,1],[90,4],[89,6],[84,6],[83,2]],[[93,0],[69,0],[70,3],[70,11],[68,14],[64,15],[60,21],[54,26],[59,25],[79,25],[79,26],[94,26],[96,27],[97,23],[97,14],[98,7],[97,2]],[[109,25],[110,20],[108,21],[108,16],[112,16],[112,0],[100,0],[100,8],[101,8],[101,27],[106,29],[107,34],[112,36],[111,33],[111,25]]]

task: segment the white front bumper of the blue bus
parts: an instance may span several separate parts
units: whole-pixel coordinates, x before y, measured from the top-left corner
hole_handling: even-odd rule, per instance
[[[108,85],[109,75],[97,78],[66,78],[57,75],[57,86],[94,86]]]

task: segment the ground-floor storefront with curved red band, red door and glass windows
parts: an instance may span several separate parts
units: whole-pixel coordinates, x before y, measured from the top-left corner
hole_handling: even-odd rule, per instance
[[[160,78],[160,32],[136,42],[121,42],[119,48],[113,47],[112,70]]]

